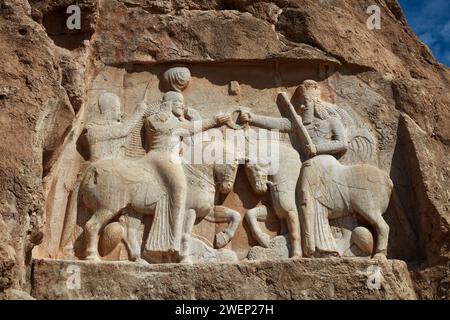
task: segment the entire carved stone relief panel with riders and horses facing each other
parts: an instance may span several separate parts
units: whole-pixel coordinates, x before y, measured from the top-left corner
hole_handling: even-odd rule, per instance
[[[278,67],[274,82],[246,68],[227,78],[220,66],[101,71],[78,176],[66,209],[53,212],[59,250],[49,254],[140,263],[386,256],[383,215],[398,199],[370,125],[305,65],[297,75]]]

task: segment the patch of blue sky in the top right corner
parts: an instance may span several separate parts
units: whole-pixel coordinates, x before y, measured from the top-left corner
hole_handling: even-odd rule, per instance
[[[450,66],[450,0],[399,0],[414,32]]]

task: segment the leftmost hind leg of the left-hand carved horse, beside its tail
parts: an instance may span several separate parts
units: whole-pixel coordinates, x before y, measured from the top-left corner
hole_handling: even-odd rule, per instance
[[[98,238],[100,230],[105,227],[118,213],[108,209],[97,210],[85,226],[86,260],[100,261],[98,254]]]

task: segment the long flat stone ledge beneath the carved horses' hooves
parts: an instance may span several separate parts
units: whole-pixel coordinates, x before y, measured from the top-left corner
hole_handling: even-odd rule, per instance
[[[78,268],[80,289],[68,289]],[[378,266],[381,288],[367,286]],[[69,271],[70,272],[70,271]],[[363,258],[295,259],[224,264],[34,260],[37,299],[416,299],[406,264]]]

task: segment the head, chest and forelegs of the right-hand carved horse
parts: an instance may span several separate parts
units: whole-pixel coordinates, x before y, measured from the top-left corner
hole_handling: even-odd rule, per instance
[[[274,142],[270,142],[274,143]],[[257,194],[264,194],[270,190],[272,205],[276,215],[286,221],[288,227],[292,254],[294,257],[302,256],[299,214],[296,205],[296,185],[300,175],[301,160],[298,152],[284,142],[279,142],[279,162],[266,164],[248,162],[245,172],[250,185]],[[273,174],[270,174],[273,172]],[[258,225],[258,221],[267,219],[268,208],[258,206],[247,211],[245,218],[250,230],[258,243],[268,247],[270,237]]]

